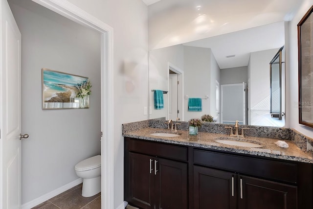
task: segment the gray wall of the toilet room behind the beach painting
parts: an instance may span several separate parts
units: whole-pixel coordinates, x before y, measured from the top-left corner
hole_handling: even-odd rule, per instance
[[[21,6],[14,4],[19,2]],[[22,33],[22,204],[78,177],[100,154],[100,34],[31,0],[9,0]],[[41,69],[89,77],[89,109],[42,110]]]

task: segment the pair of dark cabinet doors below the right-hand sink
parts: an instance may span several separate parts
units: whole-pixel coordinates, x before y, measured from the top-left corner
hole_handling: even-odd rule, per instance
[[[297,187],[194,166],[194,208],[296,209]]]

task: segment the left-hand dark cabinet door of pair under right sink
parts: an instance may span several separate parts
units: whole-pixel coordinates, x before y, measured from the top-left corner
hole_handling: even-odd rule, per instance
[[[236,209],[236,174],[194,166],[194,209]]]

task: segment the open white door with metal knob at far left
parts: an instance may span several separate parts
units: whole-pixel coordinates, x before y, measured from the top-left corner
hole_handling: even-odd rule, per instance
[[[21,208],[21,33],[1,1],[0,208]]]

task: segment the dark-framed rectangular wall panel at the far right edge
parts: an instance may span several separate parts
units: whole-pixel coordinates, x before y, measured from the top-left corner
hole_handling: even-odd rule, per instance
[[[313,6],[297,24],[299,123],[313,127]]]

